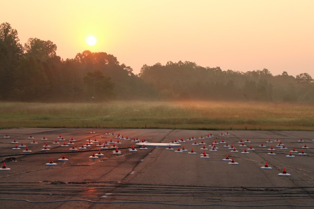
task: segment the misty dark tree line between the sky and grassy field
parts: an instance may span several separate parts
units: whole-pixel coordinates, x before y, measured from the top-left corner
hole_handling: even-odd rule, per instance
[[[314,103],[314,79],[283,69],[239,72],[194,62],[144,64],[138,75],[106,52],[78,52],[61,59],[50,40],[23,46],[9,23],[0,25],[0,101],[258,101]]]

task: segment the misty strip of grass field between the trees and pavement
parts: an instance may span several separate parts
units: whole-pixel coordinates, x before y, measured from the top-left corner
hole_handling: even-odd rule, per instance
[[[314,131],[314,106],[235,102],[0,103],[0,128]]]

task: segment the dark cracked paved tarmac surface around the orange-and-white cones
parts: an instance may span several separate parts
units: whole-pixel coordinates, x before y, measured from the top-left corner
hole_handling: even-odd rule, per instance
[[[312,131],[202,131],[161,129],[48,129],[21,128],[0,130],[0,160],[11,170],[0,170],[1,208],[313,208],[314,207],[314,132]],[[101,150],[103,157],[89,158],[99,148],[93,143],[85,150],[89,137],[101,144],[118,138],[105,134],[120,134],[131,140],[119,139],[114,149]],[[206,138],[207,135],[213,135]],[[224,135],[220,135],[223,133]],[[4,138],[8,134],[10,138]],[[35,138],[38,144],[31,144]],[[61,147],[73,137],[78,151]],[[203,135],[204,139],[200,139]],[[48,140],[41,140],[41,138]],[[164,147],[130,152],[135,144],[133,137],[147,142],[170,143],[173,139],[185,142],[188,151],[178,153]],[[195,140],[187,141],[189,137]],[[13,150],[17,145],[28,146]],[[276,147],[279,141],[288,149]],[[272,143],[267,141],[270,139]],[[302,139],[301,142],[300,139]],[[60,144],[52,144],[55,140]],[[204,145],[193,145],[203,140],[209,158],[201,158]],[[218,151],[211,151],[212,142],[224,140],[239,152],[231,152],[225,144],[216,144]],[[244,141],[242,147],[240,141]],[[245,141],[251,142],[245,142]],[[140,142],[139,141],[139,142]],[[49,151],[42,151],[47,142]],[[259,147],[261,143],[265,148]],[[302,148],[306,144],[307,148]],[[244,148],[247,154],[242,153]],[[110,148],[112,144],[106,147]],[[271,146],[276,155],[268,155]],[[295,157],[286,157],[289,151]],[[182,149],[182,147],[181,147]],[[188,154],[194,150],[196,154]],[[306,156],[299,155],[304,150]],[[59,161],[65,155],[69,160]],[[222,160],[229,155],[238,164]],[[52,157],[56,165],[46,165]],[[272,169],[262,169],[268,162]],[[286,168],[290,176],[278,176]]]

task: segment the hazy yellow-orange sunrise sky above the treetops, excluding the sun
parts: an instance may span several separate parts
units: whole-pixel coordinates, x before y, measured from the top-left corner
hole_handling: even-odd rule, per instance
[[[50,40],[63,59],[106,52],[135,74],[181,60],[314,78],[313,11],[314,0],[6,0],[0,23],[17,29],[22,45]]]

